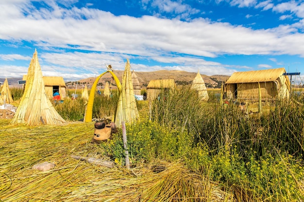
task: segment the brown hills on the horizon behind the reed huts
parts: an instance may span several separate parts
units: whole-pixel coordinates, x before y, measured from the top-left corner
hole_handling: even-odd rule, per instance
[[[122,81],[124,71],[114,70],[114,74],[118,77],[120,82]],[[177,71],[177,70],[159,70],[154,72],[135,72],[139,83],[142,86],[147,86],[150,80],[153,79],[169,79],[173,78],[177,84],[189,84],[196,77],[197,73],[195,72],[186,72],[186,71]],[[207,88],[220,88],[222,82],[225,82],[229,76],[226,75],[201,75]],[[105,83],[103,78],[111,78],[111,74],[107,73],[102,76],[99,83]],[[0,82],[4,82],[5,78],[0,78]],[[18,84],[18,80],[22,80],[22,78],[7,78],[8,84],[14,87],[21,87],[22,85]],[[78,80],[79,83],[85,83],[88,86],[93,84],[96,78],[84,78]],[[114,81],[113,81],[114,82]],[[69,82],[70,83],[70,82]]]

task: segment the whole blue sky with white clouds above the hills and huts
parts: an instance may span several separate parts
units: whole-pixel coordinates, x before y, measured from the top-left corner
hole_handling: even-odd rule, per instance
[[[304,75],[304,1],[0,0],[0,78],[22,77],[35,48],[44,76],[124,70]]]

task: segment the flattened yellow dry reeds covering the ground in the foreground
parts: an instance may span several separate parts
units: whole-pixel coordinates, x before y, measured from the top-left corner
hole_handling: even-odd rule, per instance
[[[70,155],[106,158],[101,147],[91,143],[93,122],[34,127],[9,123],[0,120],[1,202],[227,200],[228,195],[180,163],[138,164],[127,171],[117,164],[108,169],[72,159]],[[46,161],[55,168],[32,169]]]

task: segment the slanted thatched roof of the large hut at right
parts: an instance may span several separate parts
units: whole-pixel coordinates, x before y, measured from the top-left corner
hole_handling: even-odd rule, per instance
[[[283,73],[286,73],[285,68],[266,69],[266,70],[257,70],[257,71],[247,71],[247,72],[235,72],[225,82],[225,84],[275,81],[279,77],[283,76]]]

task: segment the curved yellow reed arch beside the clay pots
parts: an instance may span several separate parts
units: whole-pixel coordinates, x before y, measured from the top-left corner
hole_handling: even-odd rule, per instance
[[[87,102],[87,106],[86,106],[86,110],[85,110],[85,115],[84,115],[84,122],[91,122],[92,121],[92,114],[93,114],[93,103],[94,103],[94,97],[95,97],[95,91],[96,91],[96,87],[98,84],[99,79],[107,72],[110,72],[110,74],[113,76],[117,88],[118,88],[118,95],[121,92],[121,83],[119,81],[119,79],[117,78],[117,76],[112,72],[112,71],[106,71],[104,73],[102,73],[101,75],[99,75],[96,80],[93,83],[93,86],[91,88],[90,94],[89,94],[89,99]],[[113,116],[113,119],[115,116]],[[114,122],[114,120],[112,120]]]

